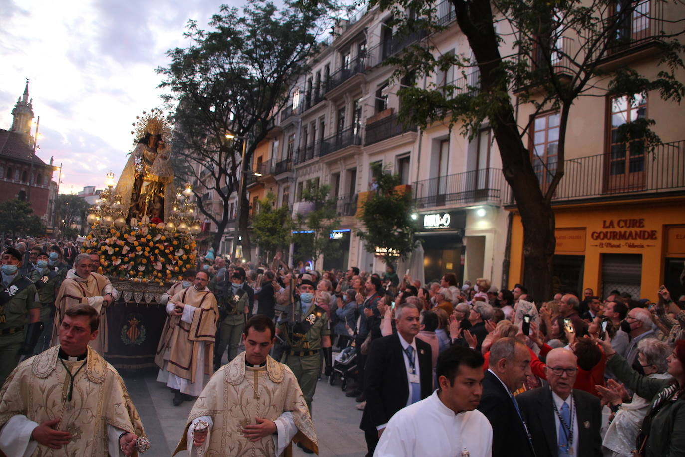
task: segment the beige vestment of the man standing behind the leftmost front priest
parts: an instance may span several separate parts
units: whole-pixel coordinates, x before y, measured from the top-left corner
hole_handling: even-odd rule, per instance
[[[62,282],[62,287],[55,299],[55,325],[52,331],[51,345],[58,345],[60,343],[60,325],[64,312],[77,304],[87,304],[95,308],[100,314],[99,332],[95,340],[90,342],[90,347],[98,351],[103,356],[108,350],[107,341],[107,314],[106,308],[103,306],[104,295],[111,293],[112,298],[116,301],[119,299],[119,292],[112,286],[107,277],[98,273],[90,273],[85,279],[76,274],[75,269],[69,270],[66,273],[66,279]]]

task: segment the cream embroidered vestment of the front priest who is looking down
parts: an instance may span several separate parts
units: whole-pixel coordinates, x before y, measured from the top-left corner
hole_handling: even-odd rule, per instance
[[[242,435],[255,418],[276,423],[276,434],[259,441]],[[191,425],[210,424],[201,448],[192,442]],[[248,367],[245,352],[214,373],[190,411],[186,432],[175,454],[188,449],[190,457],[290,455],[290,442],[301,442],[318,452],[316,431],[297,378],[282,363],[267,356],[261,367]]]

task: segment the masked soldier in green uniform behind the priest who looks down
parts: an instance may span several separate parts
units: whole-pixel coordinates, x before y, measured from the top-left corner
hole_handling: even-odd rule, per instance
[[[314,283],[302,280],[298,286],[299,301],[295,306],[294,322],[280,321],[278,332],[285,336],[288,349],[283,352],[283,362],[290,367],[299,382],[302,394],[312,412],[312,397],[316,391],[316,378],[321,373],[321,356],[323,351],[325,375],[332,373],[331,365],[331,330],[328,316],[323,308],[314,303]]]

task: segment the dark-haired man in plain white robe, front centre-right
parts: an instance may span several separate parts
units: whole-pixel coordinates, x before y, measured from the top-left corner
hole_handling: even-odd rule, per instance
[[[453,346],[436,364],[440,388],[397,411],[381,435],[374,457],[490,457],[493,428],[475,409],[483,391],[483,356]]]

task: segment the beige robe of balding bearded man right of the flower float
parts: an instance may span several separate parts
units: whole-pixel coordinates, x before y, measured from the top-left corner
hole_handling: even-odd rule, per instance
[[[176,306],[182,316],[171,314]],[[198,291],[190,286],[166,303],[169,314],[157,345],[155,364],[160,367],[157,380],[188,395],[199,395],[204,375],[212,373],[214,336],[219,308],[208,288]]]

